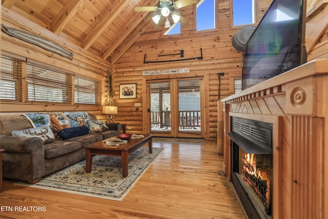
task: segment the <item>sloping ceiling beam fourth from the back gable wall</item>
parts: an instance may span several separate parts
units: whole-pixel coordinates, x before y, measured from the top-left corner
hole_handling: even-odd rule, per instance
[[[85,0],[68,1],[64,8],[52,19],[52,22],[49,24],[49,30],[59,34],[84,2]]]

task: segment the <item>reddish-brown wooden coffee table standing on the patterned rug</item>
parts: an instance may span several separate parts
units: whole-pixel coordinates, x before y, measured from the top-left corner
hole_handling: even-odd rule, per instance
[[[84,146],[86,149],[86,172],[91,172],[92,166],[92,155],[108,155],[108,156],[120,156],[122,159],[122,176],[128,176],[128,166],[129,166],[129,154],[138,148],[144,146],[148,143],[149,153],[153,153],[153,135],[144,134],[145,137],[137,139],[129,139],[127,144],[119,146],[107,146],[103,141],[95,142],[93,144]],[[117,137],[107,138],[106,140],[111,140]]]

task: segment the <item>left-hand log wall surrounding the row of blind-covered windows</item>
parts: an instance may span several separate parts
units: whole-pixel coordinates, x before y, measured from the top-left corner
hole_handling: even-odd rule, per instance
[[[73,52],[73,60],[49,52],[38,46],[29,44],[4,32],[1,33],[1,51],[34,59],[46,65],[76,72],[81,75],[96,78],[101,84],[101,104],[105,104],[107,95],[107,72],[113,70],[113,65],[102,58],[80,48],[70,42],[69,38],[56,35],[39,25],[28,21],[21,15],[2,6],[1,23],[7,27],[22,30],[48,39],[59,46]],[[7,112],[43,112],[43,111],[89,111],[100,115],[101,106],[38,104],[38,103],[1,103],[1,113]],[[104,117],[104,116],[103,116]],[[101,117],[102,118],[102,117]],[[106,118],[106,117],[104,117]]]

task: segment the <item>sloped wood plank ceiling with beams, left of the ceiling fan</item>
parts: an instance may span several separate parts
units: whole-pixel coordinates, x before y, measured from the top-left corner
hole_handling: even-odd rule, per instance
[[[157,6],[158,2],[2,0],[2,6],[114,64],[142,33],[154,25],[153,12],[135,12],[134,7]]]

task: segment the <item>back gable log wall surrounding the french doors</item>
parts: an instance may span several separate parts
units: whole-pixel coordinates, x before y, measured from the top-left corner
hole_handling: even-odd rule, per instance
[[[115,105],[118,106],[116,121],[127,124],[131,127],[129,132],[142,132],[146,130],[145,113],[146,106],[141,108],[134,107],[135,103],[142,103],[142,93],[145,87],[142,87],[143,79],[158,79],[158,76],[142,76],[142,71],[167,70],[176,68],[189,68],[190,73],[170,74],[170,78],[187,76],[208,75],[206,82],[205,114],[206,127],[202,130],[206,140],[216,141],[218,128],[218,100],[219,100],[219,80],[217,73],[224,73],[221,76],[220,98],[231,95],[229,90],[229,79],[231,75],[241,76],[242,52],[238,52],[232,46],[232,37],[239,28],[231,27],[231,1],[217,1],[217,29],[214,31],[203,32],[194,31],[193,6],[183,8],[183,16],[188,19],[189,24],[182,28],[179,35],[163,35],[162,30],[149,28],[130,49],[118,59],[114,64],[114,84],[115,84]],[[259,4],[257,19],[259,20],[267,10],[271,1],[261,1]],[[168,61],[181,59],[179,55],[158,57],[160,54],[173,54],[184,50],[185,57],[193,58],[200,56],[202,49],[203,59],[167,62],[167,63],[149,63],[144,64],[146,54],[147,61]],[[168,76],[160,75],[160,78]],[[205,78],[205,77],[204,77]],[[119,99],[119,84],[137,84],[137,98]]]

